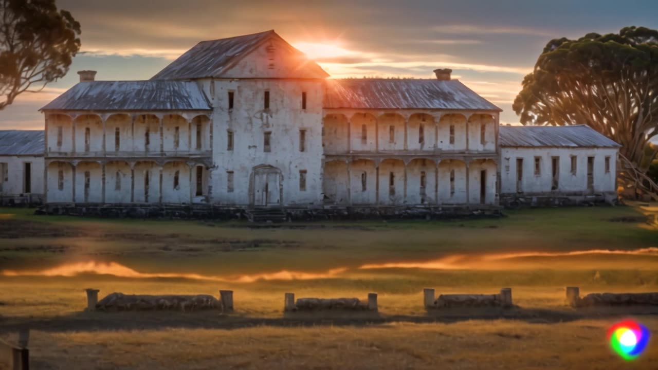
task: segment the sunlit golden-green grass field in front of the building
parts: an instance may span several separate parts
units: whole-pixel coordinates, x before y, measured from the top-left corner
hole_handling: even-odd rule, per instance
[[[658,291],[657,217],[653,205],[254,227],[0,209],[0,332],[31,327],[32,356],[46,369],[655,369],[655,341],[624,363],[604,338],[629,313],[658,332],[653,311],[576,312],[563,299],[567,285]],[[518,309],[488,317],[422,307],[425,287],[503,286]],[[84,288],[101,297],[232,289],[236,313],[82,313]],[[284,292],[377,292],[379,313],[284,315]]]

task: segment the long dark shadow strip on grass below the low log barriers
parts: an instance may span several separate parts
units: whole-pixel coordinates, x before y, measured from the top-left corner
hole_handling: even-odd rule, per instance
[[[377,312],[318,311],[282,314],[282,317],[250,317],[237,313],[224,315],[217,311],[193,313],[142,312],[78,312],[47,319],[0,317],[0,332],[13,332],[28,327],[51,332],[97,330],[161,330],[161,329],[242,329],[258,326],[311,327],[318,325],[368,327],[388,323],[458,323],[468,320],[517,320],[527,323],[563,323],[582,319],[619,319],[628,316],[658,315],[656,306],[593,307],[584,309],[431,309],[424,315],[383,315]]]

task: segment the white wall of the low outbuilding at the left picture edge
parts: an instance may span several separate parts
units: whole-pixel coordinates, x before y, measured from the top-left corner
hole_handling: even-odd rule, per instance
[[[25,163],[31,163],[30,194],[43,194],[43,157],[0,155],[0,196],[24,194]]]

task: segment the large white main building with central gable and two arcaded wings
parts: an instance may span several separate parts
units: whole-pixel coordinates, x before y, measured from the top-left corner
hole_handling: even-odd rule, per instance
[[[151,80],[81,71],[42,109],[46,201],[495,206],[501,110],[434,72],[327,79],[274,31],[203,41]]]

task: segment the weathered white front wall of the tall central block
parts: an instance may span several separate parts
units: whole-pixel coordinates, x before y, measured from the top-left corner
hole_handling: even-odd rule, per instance
[[[211,89],[211,84],[214,88]],[[282,205],[319,204],[322,201],[322,80],[203,80],[213,111],[211,200],[247,205],[253,168],[270,165],[283,176]],[[211,94],[213,90],[214,94]],[[264,93],[270,107],[264,108]],[[234,108],[228,109],[228,92]],[[301,107],[307,93],[307,109]],[[346,126],[346,122],[345,122]],[[299,130],[306,130],[305,151],[300,151]],[[234,135],[227,149],[228,130]],[[271,132],[270,152],[264,151],[264,134]],[[347,137],[343,136],[347,142]],[[306,191],[299,191],[299,171],[307,171]],[[235,190],[227,190],[227,171],[234,171]]]

